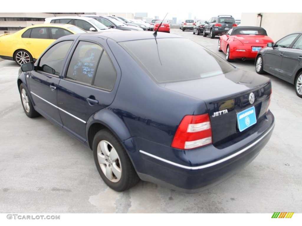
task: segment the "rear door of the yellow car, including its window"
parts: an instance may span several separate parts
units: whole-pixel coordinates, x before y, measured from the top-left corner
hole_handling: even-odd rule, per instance
[[[53,41],[50,40],[47,27],[35,27],[31,29],[28,38],[22,38],[22,42],[33,58],[37,59]]]

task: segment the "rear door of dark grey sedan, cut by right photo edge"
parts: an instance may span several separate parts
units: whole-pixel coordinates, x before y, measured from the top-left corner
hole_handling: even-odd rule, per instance
[[[292,45],[284,49],[280,75],[294,83],[297,67],[302,63],[302,35],[298,36]]]

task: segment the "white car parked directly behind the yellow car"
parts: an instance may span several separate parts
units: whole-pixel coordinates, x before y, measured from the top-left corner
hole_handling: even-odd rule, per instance
[[[78,16],[48,17],[45,18],[44,23],[72,24],[82,28],[85,31],[113,31],[113,30],[109,30],[109,28],[104,26],[104,24],[90,17],[78,17]]]

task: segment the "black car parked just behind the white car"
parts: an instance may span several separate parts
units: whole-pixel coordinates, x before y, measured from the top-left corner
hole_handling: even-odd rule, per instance
[[[82,17],[84,15],[78,15],[77,17]],[[134,26],[128,26],[123,24],[122,22],[112,18],[112,17],[107,17],[107,16],[101,16],[101,15],[86,15],[85,17],[93,18],[100,22],[101,24],[104,24],[108,28],[114,28],[117,30],[135,30],[135,31],[142,31],[140,27],[134,27]]]

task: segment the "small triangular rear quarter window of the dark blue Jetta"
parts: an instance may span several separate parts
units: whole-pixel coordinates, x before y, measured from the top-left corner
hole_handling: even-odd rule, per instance
[[[111,91],[113,89],[116,76],[117,74],[113,64],[111,63],[107,53],[104,51],[101,56],[100,63],[98,64],[93,85]]]

